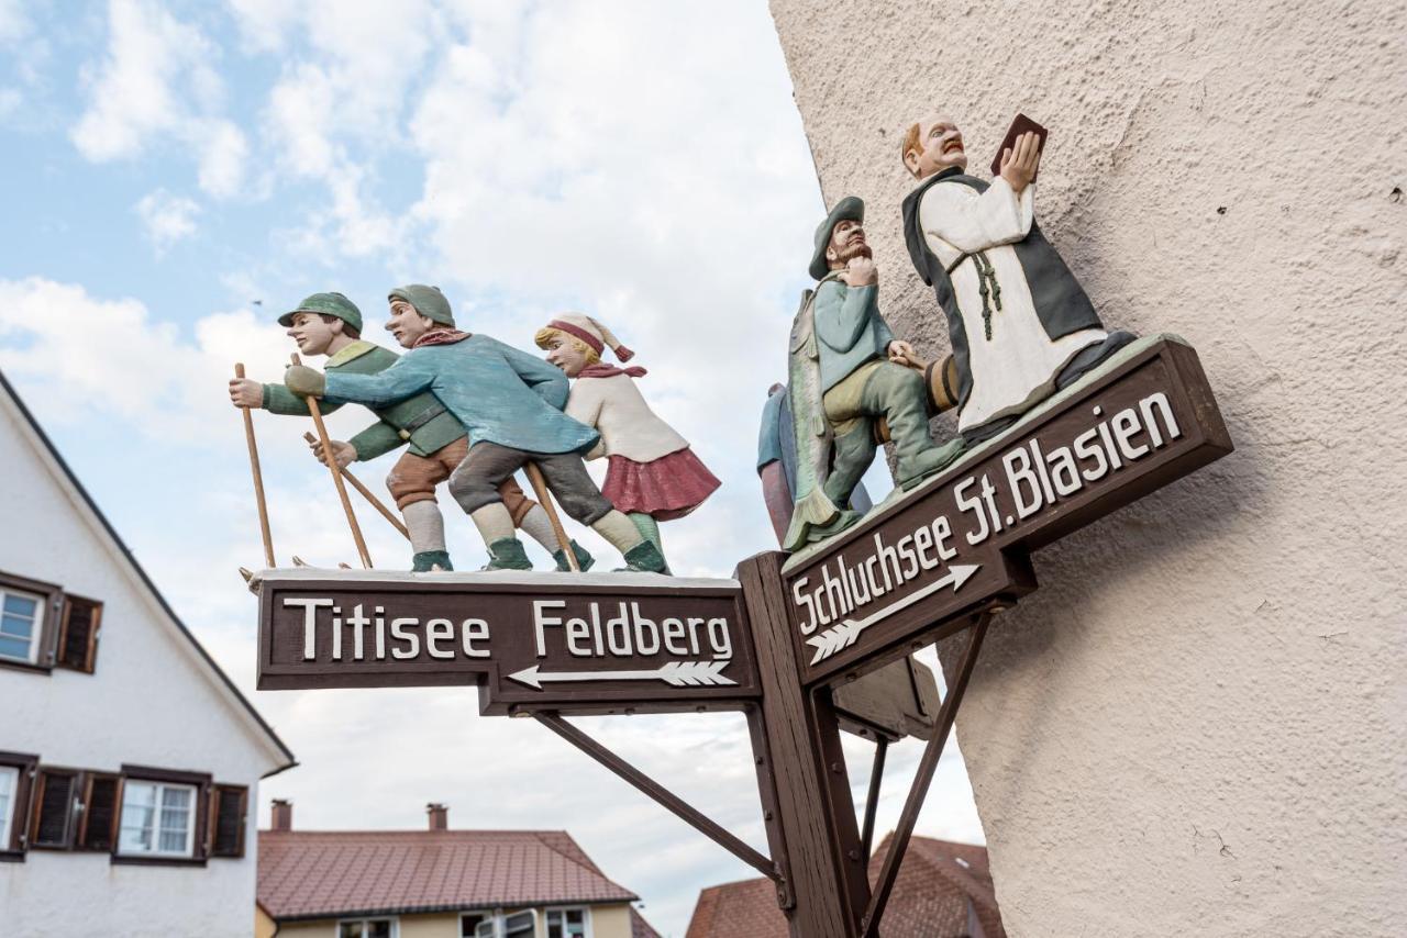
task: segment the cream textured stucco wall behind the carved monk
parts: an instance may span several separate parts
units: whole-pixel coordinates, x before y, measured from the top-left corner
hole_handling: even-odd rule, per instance
[[[978,169],[1026,111],[1047,235],[1107,325],[1199,349],[1238,446],[1040,553],[988,638],[958,733],[1007,931],[1401,934],[1404,7],[771,6],[899,335],[947,350],[903,128],[946,110]]]

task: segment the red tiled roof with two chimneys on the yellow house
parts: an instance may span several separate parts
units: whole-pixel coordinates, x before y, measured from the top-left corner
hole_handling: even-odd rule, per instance
[[[566,831],[259,831],[257,896],[276,920],[639,899]]]

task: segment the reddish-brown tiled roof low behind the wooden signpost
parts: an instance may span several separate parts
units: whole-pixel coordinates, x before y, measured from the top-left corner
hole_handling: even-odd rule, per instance
[[[870,859],[870,882],[879,876],[889,838]],[[958,862],[961,861],[961,862]],[[965,863],[965,865],[964,865]],[[960,938],[968,931],[971,900],[985,938],[1005,938],[992,892],[986,848],[915,837],[899,868],[885,938]],[[711,886],[699,893],[685,938],[787,938],[787,920],[777,908],[777,889],[767,879]]]

